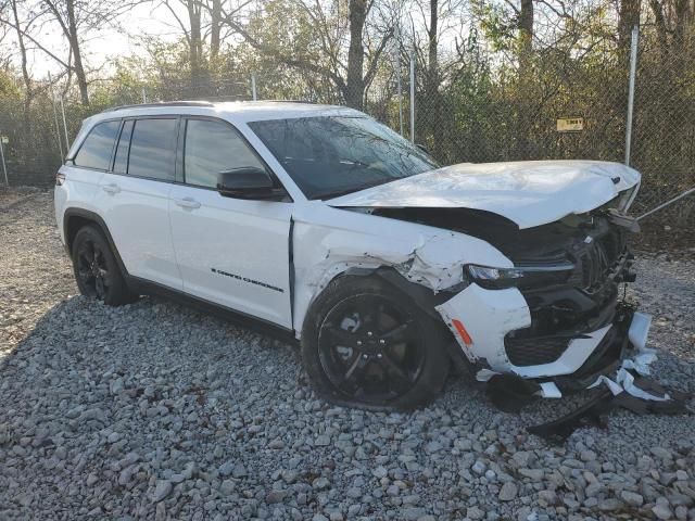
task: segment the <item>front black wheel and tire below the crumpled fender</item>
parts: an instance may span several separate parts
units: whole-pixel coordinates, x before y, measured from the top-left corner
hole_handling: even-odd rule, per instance
[[[369,313],[378,320],[368,319]],[[444,386],[448,335],[393,285],[376,277],[345,276],[331,281],[309,306],[302,358],[314,389],[329,402],[410,410],[429,404]]]

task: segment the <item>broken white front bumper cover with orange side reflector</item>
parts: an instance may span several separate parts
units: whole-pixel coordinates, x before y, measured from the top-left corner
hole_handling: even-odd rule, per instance
[[[463,354],[476,367],[479,380],[511,373],[545,382],[548,396],[556,395],[556,389],[560,394],[585,389],[599,376],[615,371],[632,350],[645,348],[650,323],[648,315],[614,303],[608,321],[604,320],[604,325],[593,331],[577,332],[571,340],[564,339],[561,351],[552,361],[516,365],[509,357],[505,339],[513,331],[528,328],[532,320],[519,290],[485,290],[472,283],[437,306],[437,310],[454,333]],[[455,321],[463,325],[466,335],[460,334]]]

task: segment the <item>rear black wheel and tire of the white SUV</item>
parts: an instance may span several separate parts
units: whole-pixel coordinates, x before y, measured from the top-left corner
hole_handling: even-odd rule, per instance
[[[77,231],[73,241],[73,271],[83,295],[109,306],[137,300],[128,290],[109,241],[97,226],[85,226]]]

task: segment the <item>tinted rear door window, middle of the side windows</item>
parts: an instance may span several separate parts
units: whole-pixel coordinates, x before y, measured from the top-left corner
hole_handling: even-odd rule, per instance
[[[138,119],[132,129],[128,175],[174,180],[176,119]]]

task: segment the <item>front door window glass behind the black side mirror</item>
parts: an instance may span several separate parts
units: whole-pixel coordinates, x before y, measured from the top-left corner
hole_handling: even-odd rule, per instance
[[[247,142],[226,123],[189,119],[186,125],[186,182],[216,187],[217,174],[232,168],[265,168]]]

